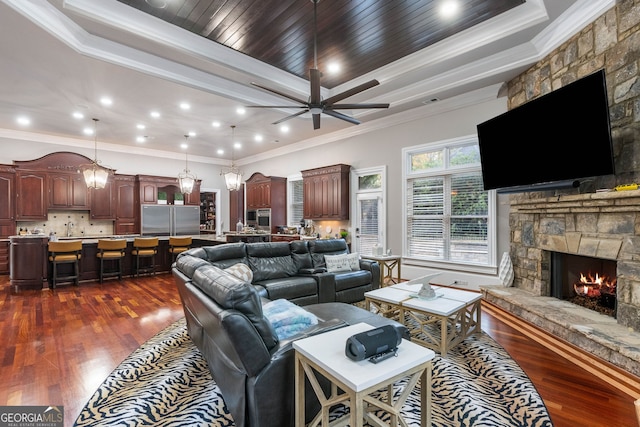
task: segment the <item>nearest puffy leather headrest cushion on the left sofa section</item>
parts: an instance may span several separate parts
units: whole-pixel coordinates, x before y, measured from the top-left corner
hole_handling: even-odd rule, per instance
[[[213,265],[198,268],[193,275],[193,284],[220,307],[237,310],[246,316],[269,350],[278,344],[278,337],[264,317],[262,301],[253,285]]]

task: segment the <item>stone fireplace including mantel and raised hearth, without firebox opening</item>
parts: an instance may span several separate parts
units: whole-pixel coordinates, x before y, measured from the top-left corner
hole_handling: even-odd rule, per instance
[[[553,335],[640,375],[640,190],[510,196],[514,287],[484,298]],[[553,253],[615,261],[616,315],[554,297]]]

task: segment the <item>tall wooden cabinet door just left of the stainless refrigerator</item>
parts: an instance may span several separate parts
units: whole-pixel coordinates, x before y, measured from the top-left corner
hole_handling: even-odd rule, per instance
[[[137,198],[136,177],[115,175],[114,189],[116,221],[115,234],[140,233],[140,203]]]

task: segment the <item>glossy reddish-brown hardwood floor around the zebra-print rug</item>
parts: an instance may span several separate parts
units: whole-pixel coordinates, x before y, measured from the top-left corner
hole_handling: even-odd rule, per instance
[[[183,316],[170,274],[12,293],[0,276],[0,405],[63,405],[71,426],[132,351]],[[638,378],[483,305],[483,330],[518,361],[556,427],[636,426]]]

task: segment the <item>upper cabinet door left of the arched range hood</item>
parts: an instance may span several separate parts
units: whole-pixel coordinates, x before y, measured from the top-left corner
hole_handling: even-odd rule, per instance
[[[16,220],[46,220],[46,195],[46,172],[18,170],[16,173]]]

